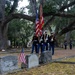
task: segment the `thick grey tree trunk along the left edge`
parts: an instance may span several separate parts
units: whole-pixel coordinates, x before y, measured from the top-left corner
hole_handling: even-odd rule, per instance
[[[0,50],[7,47],[7,25],[4,24],[5,2],[6,0],[0,0]]]

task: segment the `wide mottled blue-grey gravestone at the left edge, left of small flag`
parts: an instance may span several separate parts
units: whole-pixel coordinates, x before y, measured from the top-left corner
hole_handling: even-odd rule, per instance
[[[17,56],[0,57],[0,74],[8,73],[18,69]]]

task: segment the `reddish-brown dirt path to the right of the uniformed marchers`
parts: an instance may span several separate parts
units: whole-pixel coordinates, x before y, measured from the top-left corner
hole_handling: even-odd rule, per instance
[[[58,58],[63,58],[63,57],[67,57],[67,56],[75,56],[75,48],[73,48],[72,50],[68,49],[56,49],[55,50],[55,54],[52,56],[53,59],[58,59]]]

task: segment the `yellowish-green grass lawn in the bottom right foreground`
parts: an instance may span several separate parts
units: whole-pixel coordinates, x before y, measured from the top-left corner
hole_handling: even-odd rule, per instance
[[[75,58],[41,65],[29,70],[21,70],[7,75],[75,75]]]

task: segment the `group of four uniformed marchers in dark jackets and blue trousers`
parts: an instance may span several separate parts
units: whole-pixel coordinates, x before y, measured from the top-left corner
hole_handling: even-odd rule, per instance
[[[44,51],[52,51],[52,55],[54,55],[54,42],[55,42],[55,36],[53,33],[51,35],[48,35],[45,31],[41,36],[34,33],[34,36],[32,38],[32,52],[34,53],[34,50],[36,53],[39,54],[39,52],[43,53]]]

